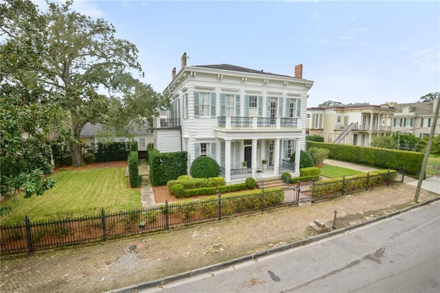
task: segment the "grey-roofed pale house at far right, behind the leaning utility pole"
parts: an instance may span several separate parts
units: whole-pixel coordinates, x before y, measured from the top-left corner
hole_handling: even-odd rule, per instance
[[[393,118],[393,132],[407,132],[422,139],[428,137],[434,121],[435,107],[439,99],[433,102],[396,104]],[[437,123],[435,134],[440,134]]]

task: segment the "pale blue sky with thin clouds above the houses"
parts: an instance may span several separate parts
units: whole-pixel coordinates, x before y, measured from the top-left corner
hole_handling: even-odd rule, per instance
[[[34,3],[43,7],[41,0]],[[140,80],[158,92],[181,55],[313,80],[326,101],[412,103],[440,91],[440,1],[89,1],[74,10],[134,43]]]

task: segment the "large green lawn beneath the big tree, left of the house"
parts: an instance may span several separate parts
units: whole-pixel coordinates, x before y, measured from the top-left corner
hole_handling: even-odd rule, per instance
[[[83,215],[141,209],[140,190],[127,187],[125,168],[67,170],[52,174],[55,186],[43,196],[23,198],[1,224],[54,220]]]

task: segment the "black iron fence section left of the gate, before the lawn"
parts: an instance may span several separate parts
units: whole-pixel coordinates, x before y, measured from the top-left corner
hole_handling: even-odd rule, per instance
[[[280,194],[281,192],[281,194]],[[138,209],[120,213],[31,222],[25,217],[24,224],[0,226],[0,251],[2,254],[28,253],[36,250],[106,242],[108,239],[125,237],[151,231],[169,230],[195,222],[221,220],[242,213],[260,211],[285,201],[282,189],[257,190],[256,194],[214,196],[206,200],[165,202],[151,209]],[[277,194],[278,193],[278,194]],[[278,200],[273,200],[278,196]]]

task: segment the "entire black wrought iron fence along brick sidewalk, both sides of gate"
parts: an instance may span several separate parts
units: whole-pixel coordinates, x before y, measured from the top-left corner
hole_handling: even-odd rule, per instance
[[[325,182],[297,182],[284,189],[259,189],[254,194],[213,196],[205,200],[165,202],[151,209],[138,209],[120,213],[105,213],[67,220],[31,222],[25,217],[23,224],[0,226],[0,252],[5,254],[28,253],[36,250],[106,242],[151,231],[169,230],[195,222],[221,220],[222,218],[263,211],[286,204],[298,205],[314,202],[349,192],[367,190],[404,182],[402,172],[366,174],[342,180]]]

